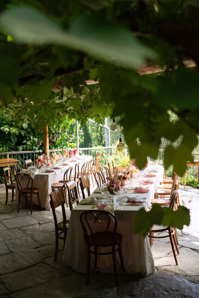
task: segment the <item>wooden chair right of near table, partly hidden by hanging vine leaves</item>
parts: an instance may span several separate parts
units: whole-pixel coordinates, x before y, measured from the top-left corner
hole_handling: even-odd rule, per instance
[[[176,204],[177,202],[177,195],[178,195],[178,191],[175,190],[172,194],[172,197],[171,197],[171,201],[170,201],[170,204],[169,204],[169,208],[170,209],[174,209],[174,205]],[[154,233],[160,233],[160,232],[168,232],[169,235],[164,235],[164,236],[154,236],[153,234]],[[161,226],[161,225],[153,225],[152,228],[150,229],[149,231],[149,243],[150,243],[150,246],[152,245],[152,239],[153,238],[166,238],[166,237],[169,237],[170,239],[170,243],[171,243],[171,247],[172,247],[172,251],[173,251],[173,255],[174,255],[174,259],[175,259],[175,263],[176,265],[178,265],[178,260],[177,260],[177,257],[176,257],[176,254],[175,254],[175,248],[176,248],[176,251],[177,253],[179,254],[179,250],[178,250],[178,246],[177,246],[177,243],[176,243],[176,238],[175,238],[175,230],[174,228],[172,228],[171,226]],[[174,241],[174,244],[175,244],[175,248],[174,248],[174,244],[173,244],[173,241]]]

